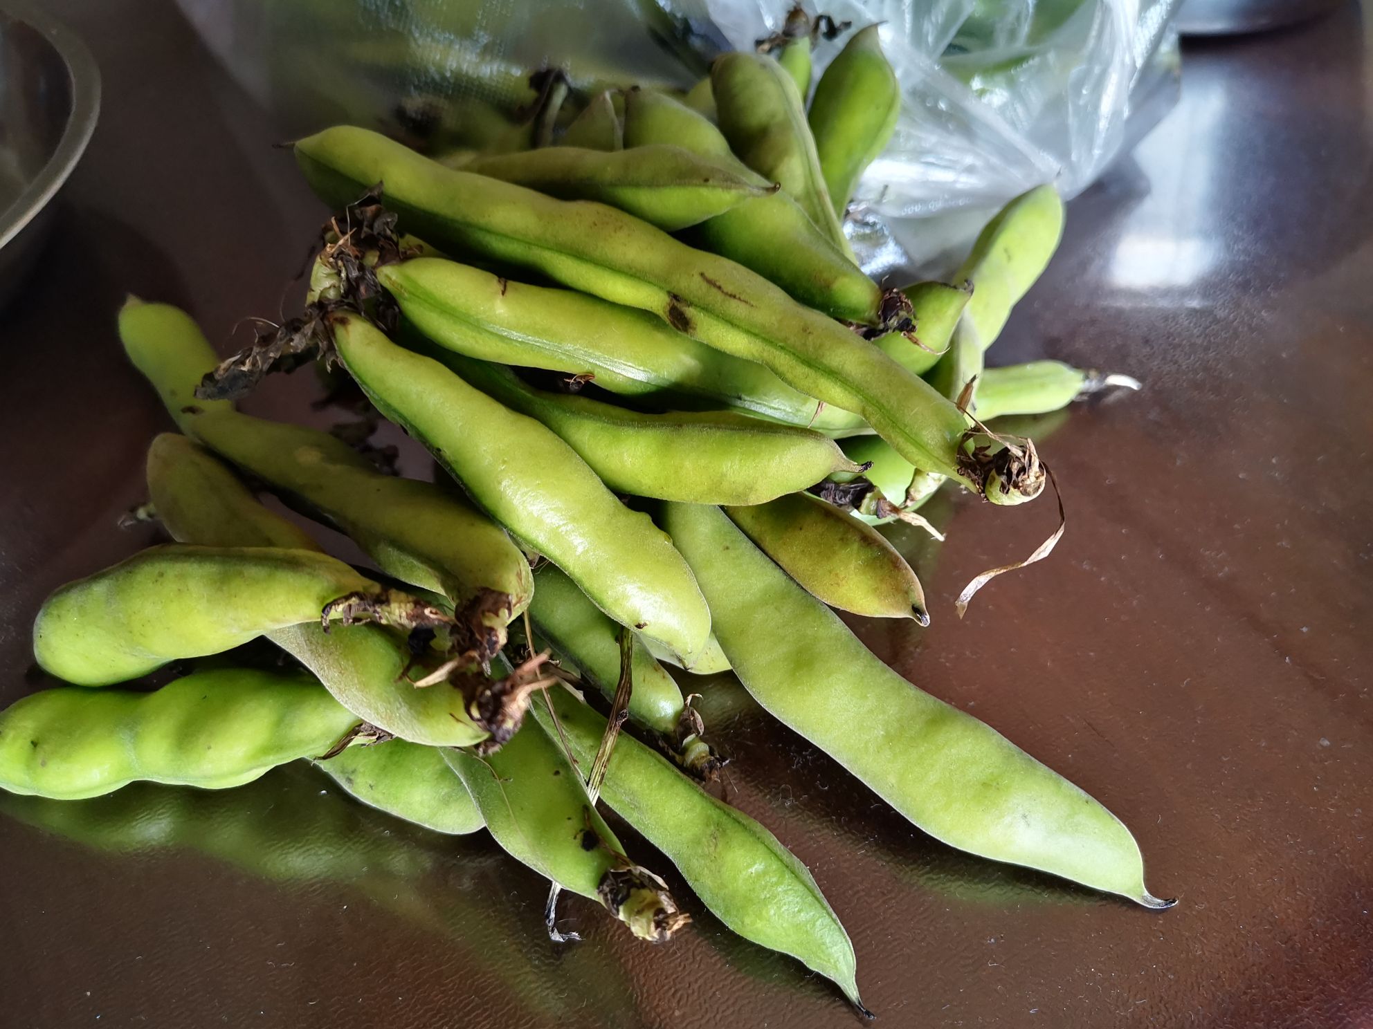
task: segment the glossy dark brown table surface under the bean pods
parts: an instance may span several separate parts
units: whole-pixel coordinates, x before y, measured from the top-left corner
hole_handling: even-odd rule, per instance
[[[41,685],[41,598],[152,538],[115,524],[168,425],[115,340],[121,298],[183,303],[228,350],[240,318],[280,310],[323,214],[169,3],[55,8],[106,106],[40,270],[0,313],[4,702]],[[901,536],[934,626],[859,627],[1119,814],[1174,910],[954,853],[736,683],[707,685],[730,799],[813,870],[879,1025],[1373,1024],[1366,41],[1348,5],[1185,48],[1181,104],[1071,204],[993,351],[1146,383],[1046,442],[1067,536],[960,622],[962,583],[1053,512],[951,505],[939,552]],[[298,414],[312,387],[272,383],[251,406]],[[586,938],[555,945],[538,877],[485,834],[411,833],[308,768],[238,793],[3,807],[5,1026],[854,1024],[825,981],[689,896],[670,947],[577,900],[564,921]]]

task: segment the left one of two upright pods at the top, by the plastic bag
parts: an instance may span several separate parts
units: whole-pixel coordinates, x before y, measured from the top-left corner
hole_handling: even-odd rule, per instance
[[[787,69],[761,54],[721,54],[710,67],[710,86],[730,150],[791,195],[831,243],[846,247],[806,107]]]

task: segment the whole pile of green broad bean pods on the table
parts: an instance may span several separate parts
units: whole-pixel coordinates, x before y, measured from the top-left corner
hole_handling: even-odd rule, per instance
[[[1052,187],[997,214],[951,283],[884,291],[861,272],[843,218],[899,91],[876,26],[811,89],[817,40],[792,19],[681,95],[582,96],[545,74],[537,110],[481,150],[349,126],[299,140],[338,211],[301,317],[221,362],[185,313],[119,311],[180,429],[147,458],[147,512],[174,542],[44,602],[34,653],[70,685],[0,713],[0,788],[224,789],[309,761],[435,833],[485,827],[553,885],[555,938],[567,890],[665,941],[686,910],[603,803],[726,926],[859,1004],[814,878],[711,785],[721,757],[684,693],[732,671],[931,836],[1166,907],[1109,811],[832,611],[925,624],[883,523],[924,523],[939,490],[1034,499],[1046,471],[1008,416],[1129,380],[983,368],[1057,246]],[[236,409],[313,358],[442,482]],[[213,657],[259,637],[283,660]],[[150,689],[166,665],[178,678]]]

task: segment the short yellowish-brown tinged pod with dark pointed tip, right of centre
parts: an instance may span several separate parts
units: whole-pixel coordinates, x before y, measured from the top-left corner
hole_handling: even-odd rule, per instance
[[[752,508],[725,508],[754,545],[832,608],[930,624],[925,591],[897,549],[833,504],[794,493]]]

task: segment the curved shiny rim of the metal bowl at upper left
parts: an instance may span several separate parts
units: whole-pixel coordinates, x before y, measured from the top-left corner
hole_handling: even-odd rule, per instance
[[[100,114],[100,69],[85,43],[60,22],[44,15],[26,0],[0,0],[0,15],[23,22],[43,34],[66,64],[71,82],[71,114],[62,129],[52,156],[23,192],[0,215],[0,247],[19,235],[56,195],[77,166]]]

